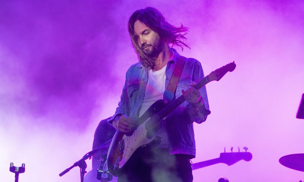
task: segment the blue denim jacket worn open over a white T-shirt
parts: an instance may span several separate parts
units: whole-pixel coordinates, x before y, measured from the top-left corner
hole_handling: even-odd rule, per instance
[[[175,49],[172,50],[174,51],[174,56],[167,64],[165,88],[168,86],[179,56]],[[175,98],[181,96],[181,90],[186,90],[190,83],[198,83],[203,78],[204,73],[200,62],[193,58],[187,58],[176,88]],[[133,64],[128,69],[121,100],[118,103],[114,116],[108,120],[109,123],[112,123],[112,120],[117,115],[126,115],[133,120],[139,118],[138,110],[143,101],[148,79],[148,71],[140,62]],[[190,155],[190,158],[195,157],[193,122],[202,123],[206,121],[207,115],[210,114],[206,87],[202,87],[200,92],[205,103],[205,110],[200,111],[195,106],[185,101],[171,112],[164,122],[162,122],[162,127],[168,132],[170,154],[180,153],[188,154]]]

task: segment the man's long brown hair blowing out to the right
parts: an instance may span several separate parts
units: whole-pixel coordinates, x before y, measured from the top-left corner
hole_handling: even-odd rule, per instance
[[[184,41],[187,40],[185,35],[188,32],[188,28],[184,27],[182,24],[180,27],[175,27],[168,23],[164,16],[156,8],[147,7],[144,9],[137,10],[134,12],[128,23],[128,31],[132,40],[133,48],[138,56],[139,61],[146,68],[154,68],[154,63],[156,58],[148,57],[144,54],[140,46],[138,45],[138,36],[134,31],[134,23],[139,20],[140,22],[147,25],[150,29],[156,32],[162,41],[167,42],[171,47],[173,45],[181,47],[189,47]]]

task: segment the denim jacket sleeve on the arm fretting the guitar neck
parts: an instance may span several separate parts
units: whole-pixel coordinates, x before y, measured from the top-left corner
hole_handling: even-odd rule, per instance
[[[192,78],[195,83],[198,83],[204,78],[202,65],[197,60],[195,60],[193,65]],[[208,102],[206,87],[203,86],[201,89],[199,89],[199,91],[202,95],[202,99],[204,100],[204,107],[197,108],[192,104],[188,104],[185,108],[185,111],[188,113],[188,117],[192,122],[195,123],[202,123],[206,121],[207,116],[211,113],[209,110],[209,102]]]

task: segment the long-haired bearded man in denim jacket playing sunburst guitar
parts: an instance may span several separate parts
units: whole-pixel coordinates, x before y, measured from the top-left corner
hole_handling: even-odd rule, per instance
[[[155,101],[163,99],[180,57],[170,46],[188,47],[184,43],[188,28],[169,24],[155,8],[134,12],[129,19],[128,30],[140,62],[128,69],[119,107],[108,120],[123,133],[130,132],[135,121]],[[200,62],[186,59],[174,92],[174,99],[184,95],[186,102],[161,121],[162,127],[156,135],[162,141],[157,147],[136,150],[125,164],[126,172],[119,176],[119,182],[193,180],[189,161],[195,157],[193,122],[202,123],[210,114],[206,88],[193,88],[203,78]]]

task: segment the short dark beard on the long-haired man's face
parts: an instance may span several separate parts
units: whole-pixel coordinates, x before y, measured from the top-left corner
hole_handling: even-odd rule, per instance
[[[145,49],[146,47],[147,49]],[[143,53],[150,58],[156,58],[163,49],[164,44],[160,40],[159,36],[154,39],[153,44],[146,43],[141,46],[141,50],[143,51]]]

